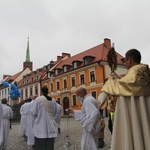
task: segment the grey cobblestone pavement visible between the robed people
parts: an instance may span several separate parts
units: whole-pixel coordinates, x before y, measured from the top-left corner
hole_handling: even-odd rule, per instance
[[[99,150],[110,149],[111,134],[108,130],[107,122],[108,118],[105,118],[105,146],[104,148],[100,148]],[[7,150],[32,150],[32,147],[26,144],[25,139],[18,136],[19,127],[19,123],[12,124]],[[55,140],[55,150],[64,150],[65,139],[67,135],[70,141],[70,150],[80,150],[82,126],[80,122],[75,121],[74,118],[61,119],[61,133]]]

